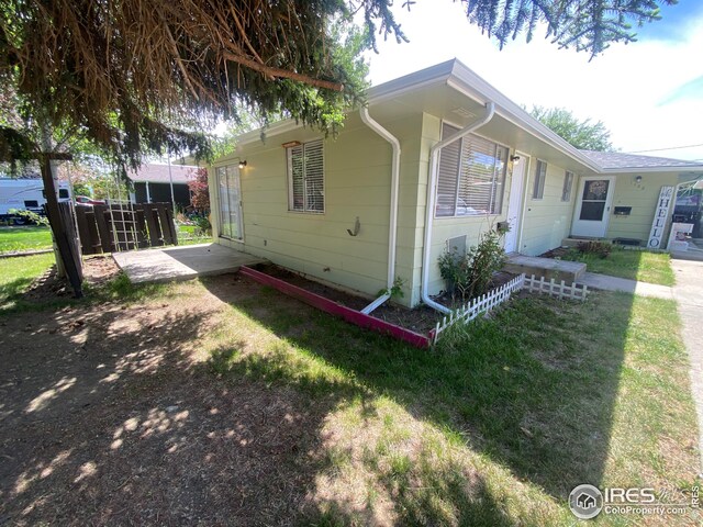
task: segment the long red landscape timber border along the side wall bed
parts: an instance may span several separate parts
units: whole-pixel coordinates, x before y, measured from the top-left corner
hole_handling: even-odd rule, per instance
[[[360,311],[339,305],[330,299],[325,299],[324,296],[320,296],[319,294],[305,291],[304,289],[293,285],[292,283],[288,283],[283,280],[279,280],[278,278],[270,277],[269,274],[252,269],[250,267],[242,266],[239,272],[246,277],[253,278],[259,283],[270,285],[281,293],[286,293],[302,302],[305,302],[313,307],[317,307],[319,310],[322,310],[326,313],[339,316],[359,327],[372,329],[383,335],[390,335],[394,338],[398,338],[399,340],[404,340],[405,343],[412,344],[417,348],[429,348],[429,346],[432,345],[432,339],[426,335],[420,335],[419,333],[411,332],[410,329],[405,329],[404,327],[400,327],[394,324],[390,324],[386,321],[381,321],[380,318],[365,315]]]

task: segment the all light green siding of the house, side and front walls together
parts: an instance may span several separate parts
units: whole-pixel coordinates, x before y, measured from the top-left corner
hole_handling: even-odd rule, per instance
[[[402,119],[381,121],[381,124],[401,143],[395,276],[403,281],[404,296],[399,301],[414,306],[421,299],[429,150],[440,139],[442,120],[429,113],[406,111]],[[219,237],[214,168],[210,170],[213,234],[221,244],[267,258],[310,278],[375,296],[387,287],[391,146],[364,125],[357,114],[349,115],[339,136],[324,141],[324,213],[290,212],[287,157],[281,145],[316,138],[314,131],[295,128],[269,137],[265,143],[244,145],[236,156],[216,161],[215,168],[236,164],[239,158],[247,160],[241,172],[244,239],[233,242]],[[514,153],[514,145],[505,146]],[[565,202],[561,198],[566,171],[548,162],[544,197],[533,199],[536,152],[521,146],[520,162],[525,164],[522,195],[510,195],[513,166],[509,162],[500,214],[434,220],[429,294],[445,287],[437,259],[447,240],[466,235],[467,247],[476,245],[482,232],[495,228],[498,222],[505,220],[510,200],[520,200],[523,204],[521,223],[513,226],[520,253],[539,255],[560,246],[569,236],[579,176],[574,177],[570,199]],[[616,176],[612,208],[632,206],[633,211],[625,217],[615,217],[611,212],[609,238],[646,240],[661,186],[679,182],[677,173],[643,175],[640,183],[634,178],[634,173]],[[354,228],[357,216],[360,231],[358,236],[349,236],[347,229]]]

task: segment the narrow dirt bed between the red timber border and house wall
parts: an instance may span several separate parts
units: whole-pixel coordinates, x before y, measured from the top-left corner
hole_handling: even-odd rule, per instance
[[[259,264],[254,266],[254,268],[270,277],[278,278],[298,288],[304,289],[305,291],[319,294],[320,296],[332,300],[339,305],[344,305],[356,311],[361,311],[371,302],[371,299],[358,296],[346,291],[331,288],[314,280],[309,280],[301,274],[283,269],[274,264]],[[425,305],[409,310],[400,305],[389,304],[388,302],[373,310],[371,316],[390,324],[404,327],[412,332],[420,333],[421,335],[429,333],[431,329],[434,329],[437,322],[442,321],[442,315],[439,313]]]

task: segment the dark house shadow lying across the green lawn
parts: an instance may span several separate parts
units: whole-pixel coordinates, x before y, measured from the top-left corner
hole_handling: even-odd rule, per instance
[[[584,304],[515,299],[466,335],[455,334],[436,350],[419,350],[269,288],[236,300],[210,290],[355,382],[302,374],[283,352],[230,357],[237,373],[292,384],[317,397],[388,397],[557,500],[578,484],[603,480],[631,295],[609,296],[607,309],[599,305],[598,293]],[[453,496],[459,508],[460,494]]]

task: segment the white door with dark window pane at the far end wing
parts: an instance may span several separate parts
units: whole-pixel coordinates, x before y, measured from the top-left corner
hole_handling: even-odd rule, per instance
[[[614,187],[613,176],[581,178],[571,225],[572,236],[605,237]]]

